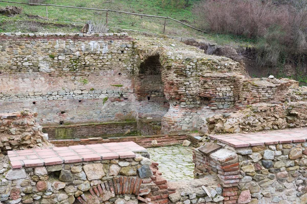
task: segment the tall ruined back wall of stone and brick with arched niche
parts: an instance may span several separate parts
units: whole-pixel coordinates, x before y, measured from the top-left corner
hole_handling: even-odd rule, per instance
[[[163,134],[206,132],[212,115],[305,103],[293,80],[250,79],[243,64],[169,39],[6,33],[0,49],[0,111],[32,109],[44,126],[155,119]]]

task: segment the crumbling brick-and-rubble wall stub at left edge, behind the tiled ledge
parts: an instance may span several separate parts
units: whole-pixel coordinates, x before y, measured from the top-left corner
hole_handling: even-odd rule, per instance
[[[0,152],[52,146],[42,127],[36,122],[37,113],[24,110],[0,114]]]

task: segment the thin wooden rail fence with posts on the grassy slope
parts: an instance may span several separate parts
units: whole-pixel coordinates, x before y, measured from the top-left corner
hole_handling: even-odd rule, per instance
[[[164,24],[163,24],[163,34],[165,34],[165,28],[166,28],[166,22],[167,20],[171,20],[180,24],[185,25],[186,27],[189,27],[191,29],[194,29],[196,31],[200,31],[202,33],[207,33],[201,29],[195,28],[192,25],[189,25],[187,23],[181,22],[179,20],[176,20],[174,18],[168,17],[168,16],[157,16],[157,15],[147,15],[147,14],[140,14],[140,13],[130,13],[130,12],[125,12],[125,11],[116,11],[116,10],[110,10],[110,9],[96,9],[96,8],[86,8],[86,7],[74,7],[74,6],[63,6],[63,5],[55,5],[55,4],[34,4],[34,3],[25,3],[25,2],[11,2],[11,1],[1,1],[3,3],[11,3],[11,4],[24,4],[24,5],[29,5],[29,6],[43,6],[46,7],[46,16],[47,16],[47,20],[49,19],[48,15],[50,15],[48,13],[48,7],[62,7],[62,8],[71,8],[71,9],[83,9],[83,10],[94,10],[94,11],[103,11],[105,12],[105,24],[108,24],[108,20],[109,20],[109,12],[114,12],[114,13],[120,13],[120,14],[127,14],[127,15],[135,15],[135,16],[145,16],[145,17],[151,17],[151,18],[160,18],[160,19],[164,19]]]

